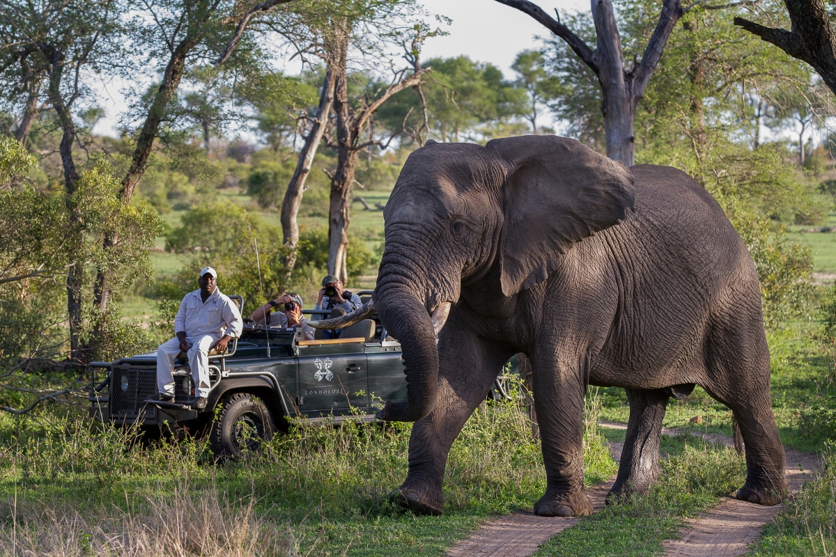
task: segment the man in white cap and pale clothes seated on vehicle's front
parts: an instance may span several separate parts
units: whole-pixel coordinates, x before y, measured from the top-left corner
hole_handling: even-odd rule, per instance
[[[226,352],[227,344],[241,335],[244,323],[235,302],[217,288],[217,271],[201,269],[196,291],[189,292],[180,302],[174,318],[176,338],[157,348],[157,397],[155,400],[174,401],[174,359],[186,352],[195,385],[195,408],[206,408],[209,396],[209,352]]]

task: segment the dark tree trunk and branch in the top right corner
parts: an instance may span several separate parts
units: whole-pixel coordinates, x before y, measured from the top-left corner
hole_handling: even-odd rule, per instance
[[[792,23],[791,31],[765,27],[740,17],[734,18],[734,23],[813,66],[836,94],[836,33],[824,0],[784,0],[784,4]]]

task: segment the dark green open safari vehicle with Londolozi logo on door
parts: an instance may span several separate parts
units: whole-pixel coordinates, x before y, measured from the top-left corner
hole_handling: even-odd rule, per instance
[[[243,306],[241,296],[229,297]],[[176,358],[173,403],[146,401],[156,393],[156,352],[94,362],[90,411],[105,423],[137,424],[149,433],[210,431],[218,456],[257,448],[287,428],[287,418],[372,421],[372,393],[394,402],[405,401],[407,394],[400,344],[381,339],[382,332],[375,319],[365,319],[345,327],[337,339],[305,341],[296,329],[245,320],[241,337],[226,353],[210,353],[211,390],[202,411],[193,408],[185,352]]]

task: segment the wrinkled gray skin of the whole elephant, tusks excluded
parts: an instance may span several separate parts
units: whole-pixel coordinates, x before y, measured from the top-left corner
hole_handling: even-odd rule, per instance
[[[537,514],[589,514],[584,392],[627,389],[630,423],[610,495],[658,470],[670,396],[694,384],[732,408],[746,442],[737,497],[776,504],[784,453],[769,396],[757,273],[700,185],[668,167],[630,170],[573,139],[428,144],[410,155],[385,212],[375,307],[403,347],[415,421],[393,497],[441,514],[447,453],[504,362],[524,352],[548,487]],[[430,314],[453,304],[438,344]],[[610,498],[613,500],[613,498]]]

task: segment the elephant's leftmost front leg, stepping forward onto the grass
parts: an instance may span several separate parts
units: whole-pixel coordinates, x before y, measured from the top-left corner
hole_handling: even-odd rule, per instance
[[[439,377],[436,406],[415,422],[410,435],[409,473],[390,499],[421,514],[441,514],[447,455],[461,428],[482,403],[502,365],[512,356],[495,343],[456,331],[449,325],[439,339]]]

